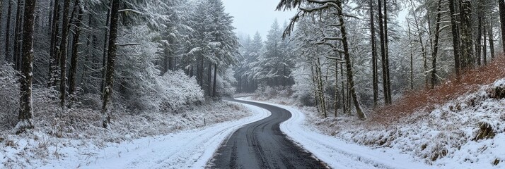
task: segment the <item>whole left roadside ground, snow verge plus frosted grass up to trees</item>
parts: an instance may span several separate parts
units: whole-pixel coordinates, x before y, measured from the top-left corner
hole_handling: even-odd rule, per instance
[[[228,101],[175,113],[113,115],[108,129],[100,127],[98,111],[69,110],[60,119],[37,115],[28,133],[0,132],[0,168],[204,166],[228,134],[268,115]]]

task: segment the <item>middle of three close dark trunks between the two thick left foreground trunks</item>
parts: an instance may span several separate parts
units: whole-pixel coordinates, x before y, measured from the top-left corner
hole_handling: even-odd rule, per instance
[[[64,108],[66,97],[66,48],[69,40],[69,8],[70,1],[63,3],[62,43],[59,45],[59,106]]]

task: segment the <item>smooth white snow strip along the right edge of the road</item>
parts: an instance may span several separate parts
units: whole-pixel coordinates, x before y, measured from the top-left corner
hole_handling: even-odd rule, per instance
[[[248,97],[241,99],[250,101]],[[255,102],[270,104],[262,101]],[[321,134],[310,125],[306,125],[305,114],[297,108],[279,104],[270,105],[279,106],[291,112],[293,116],[281,123],[281,131],[331,168],[433,168],[416,162],[407,154],[400,154],[393,149],[371,149]]]

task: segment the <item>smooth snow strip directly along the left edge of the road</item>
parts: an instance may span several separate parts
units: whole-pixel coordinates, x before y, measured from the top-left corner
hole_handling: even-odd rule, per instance
[[[96,157],[74,154],[42,168],[204,168],[221,142],[245,124],[262,120],[269,111],[245,105],[253,116],[211,127],[146,137],[95,150]],[[93,151],[93,150],[92,150]]]

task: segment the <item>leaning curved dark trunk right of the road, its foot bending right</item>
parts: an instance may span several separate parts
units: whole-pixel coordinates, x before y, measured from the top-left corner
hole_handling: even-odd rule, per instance
[[[380,0],[379,0],[380,1]],[[347,79],[349,80],[349,88],[350,92],[352,94],[352,100],[354,102],[354,107],[356,108],[356,113],[358,114],[358,117],[360,119],[366,118],[365,114],[361,110],[361,106],[359,105],[358,101],[358,96],[356,94],[356,89],[354,89],[354,80],[353,80],[353,73],[352,73],[352,63],[351,63],[351,56],[349,54],[349,44],[347,44],[347,32],[346,32],[346,27],[344,23],[344,15],[342,11],[342,1],[337,1],[337,15],[339,18],[339,23],[340,23],[340,32],[342,35],[342,46],[344,47],[344,57],[345,57],[345,63],[347,67]]]

